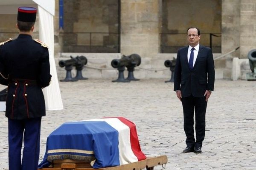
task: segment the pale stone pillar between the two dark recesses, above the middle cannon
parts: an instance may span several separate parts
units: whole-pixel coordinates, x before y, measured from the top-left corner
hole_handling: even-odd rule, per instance
[[[161,0],[121,0],[121,53],[153,58],[159,52]]]

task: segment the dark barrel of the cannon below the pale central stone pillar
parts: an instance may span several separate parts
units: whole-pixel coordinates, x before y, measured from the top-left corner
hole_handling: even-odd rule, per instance
[[[111,65],[113,68],[119,68],[122,66],[129,67],[132,65],[140,65],[141,58],[138,54],[131,54],[129,56],[123,55],[121,59],[113,59]]]

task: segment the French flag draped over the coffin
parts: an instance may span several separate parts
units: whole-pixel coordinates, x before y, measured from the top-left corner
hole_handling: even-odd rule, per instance
[[[88,159],[89,158],[89,159]],[[136,126],[123,117],[66,122],[47,138],[47,149],[39,168],[52,160],[90,160],[93,168],[119,166],[146,159]]]

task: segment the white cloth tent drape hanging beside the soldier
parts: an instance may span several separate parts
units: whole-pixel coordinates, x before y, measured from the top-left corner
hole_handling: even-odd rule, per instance
[[[58,84],[56,65],[54,60],[54,28],[53,15],[49,14],[44,8],[38,6],[39,14],[39,39],[49,46],[50,74],[52,75],[51,84],[43,89],[46,110],[61,110],[63,104],[61,92]]]

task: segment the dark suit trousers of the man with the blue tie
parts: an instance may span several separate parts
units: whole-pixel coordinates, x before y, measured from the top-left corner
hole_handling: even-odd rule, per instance
[[[181,98],[184,116],[184,131],[186,133],[186,145],[191,147],[202,147],[205,136],[205,113],[207,102],[205,97]],[[194,137],[194,112],[195,112],[195,134]]]

